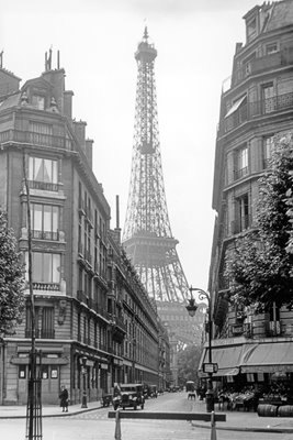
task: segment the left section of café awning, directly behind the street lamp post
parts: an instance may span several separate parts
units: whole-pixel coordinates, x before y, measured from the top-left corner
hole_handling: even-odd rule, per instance
[[[212,362],[218,366],[217,373],[213,373],[213,376],[235,376],[239,373],[240,360],[243,356],[244,344],[239,345],[222,345],[212,346]],[[202,372],[203,363],[209,362],[209,348],[205,348],[205,352],[202,355],[199,375],[206,377],[207,375]]]

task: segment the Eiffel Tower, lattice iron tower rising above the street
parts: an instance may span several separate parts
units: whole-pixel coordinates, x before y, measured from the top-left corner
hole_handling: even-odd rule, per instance
[[[135,53],[137,89],[132,175],[123,244],[162,321],[177,342],[200,338],[185,310],[189,286],[171,232],[161,168],[154,64],[157,51],[145,28]]]

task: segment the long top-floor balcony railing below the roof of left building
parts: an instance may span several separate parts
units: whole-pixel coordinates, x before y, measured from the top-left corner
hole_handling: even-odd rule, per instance
[[[7,130],[0,133],[0,143],[20,142],[31,145],[53,146],[55,148],[72,150],[72,141],[65,136],[34,133],[32,131]]]

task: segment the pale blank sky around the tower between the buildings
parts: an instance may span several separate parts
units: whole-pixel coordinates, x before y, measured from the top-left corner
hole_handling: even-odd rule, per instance
[[[120,221],[126,216],[137,65],[147,25],[155,44],[159,139],[172,235],[189,285],[207,289],[215,211],[214,153],[219,99],[230,76],[243,16],[257,0],[0,0],[3,67],[25,80],[66,70],[74,118],[93,139],[93,172]],[[225,82],[226,84],[226,82]]]

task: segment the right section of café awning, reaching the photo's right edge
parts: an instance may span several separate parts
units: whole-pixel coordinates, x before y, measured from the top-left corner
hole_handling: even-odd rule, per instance
[[[246,348],[241,373],[293,372],[293,342],[268,342]]]

